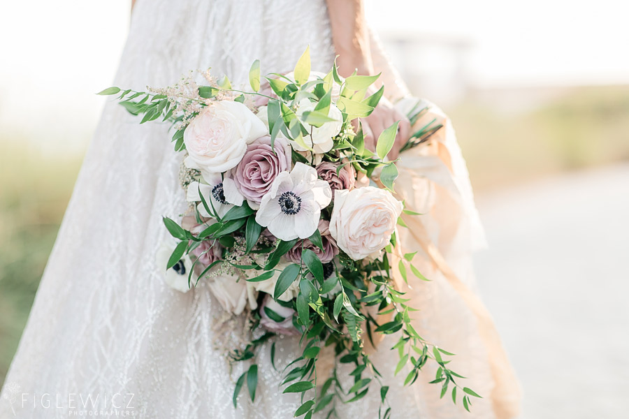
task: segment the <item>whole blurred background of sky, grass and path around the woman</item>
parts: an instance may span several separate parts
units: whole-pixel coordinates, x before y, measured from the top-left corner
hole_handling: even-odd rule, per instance
[[[629,390],[629,5],[368,0],[449,114],[485,223],[482,296],[524,418],[620,418]],[[127,0],[0,14],[0,385],[113,80]],[[37,10],[33,13],[33,10]]]

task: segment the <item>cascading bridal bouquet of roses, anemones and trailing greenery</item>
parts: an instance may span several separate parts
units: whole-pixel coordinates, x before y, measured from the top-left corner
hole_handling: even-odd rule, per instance
[[[355,402],[373,383],[382,399],[380,416],[391,416],[388,387],[363,346],[397,333],[396,374],[405,385],[417,380],[426,362],[438,364],[433,383],[441,397],[457,389],[465,409],[470,396],[447,366],[453,355],[428,343],[411,325],[412,307],[396,289],[392,267],[402,279],[414,253],[399,254],[396,226],[403,203],[393,196],[398,171],[387,161],[397,123],[386,128],[375,152],[366,149],[358,118],[370,115],[384,88],[369,89],[378,75],[341,78],[310,71],[304,52],[293,72],[261,78],[254,61],[250,89],[235,89],[228,78],[203,73],[207,84],[184,78],[173,87],[149,92],[110,87],[140,123],[173,123],[175,151],[185,154],[180,180],[190,203],[180,221],[164,218],[172,242],[159,253],[166,281],[186,292],[200,281],[233,316],[250,319],[251,339],[233,348],[231,360],[253,362],[256,350],[274,335],[301,336],[302,355],[284,371],[283,392],[301,393],[295,416],[335,411]],[[368,95],[368,91],[373,94]],[[425,112],[411,111],[411,122]],[[352,124],[354,122],[354,124]],[[428,124],[412,135],[414,147],[440,126]],[[418,214],[416,214],[418,215]],[[343,388],[334,368],[317,381],[317,360],[331,348],[335,363],[353,365],[353,385]],[[321,355],[320,355],[321,354]],[[270,346],[275,366],[275,344]],[[256,395],[257,366],[238,378]],[[319,374],[319,377],[321,374]]]

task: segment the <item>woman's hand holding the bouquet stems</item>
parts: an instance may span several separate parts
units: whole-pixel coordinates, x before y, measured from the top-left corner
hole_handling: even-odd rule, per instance
[[[371,115],[361,118],[365,147],[375,152],[376,142],[382,131],[395,124],[396,121],[399,121],[396,142],[393,144],[393,148],[391,148],[388,156],[389,160],[397,159],[400,154],[400,148],[405,145],[410,137],[410,121],[406,115],[403,115],[402,112],[393,107],[393,104],[384,96],[380,98]]]

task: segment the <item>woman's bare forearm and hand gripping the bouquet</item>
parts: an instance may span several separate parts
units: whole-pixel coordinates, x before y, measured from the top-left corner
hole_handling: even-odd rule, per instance
[[[347,77],[357,71],[360,75],[374,73],[371,54],[370,33],[365,20],[362,0],[326,0],[332,43],[339,55],[337,59],[340,75]],[[375,45],[377,47],[377,45]],[[386,96],[386,87],[385,87]],[[361,119],[365,145],[375,150],[375,142],[385,128],[399,121],[396,144],[389,153],[389,158],[396,159],[400,147],[410,136],[410,122],[391,102],[382,97],[371,115]]]

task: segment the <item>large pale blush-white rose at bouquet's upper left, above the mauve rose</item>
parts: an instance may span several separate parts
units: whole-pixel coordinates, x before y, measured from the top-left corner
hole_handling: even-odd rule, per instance
[[[263,122],[243,103],[212,103],[184,131],[186,166],[201,172],[225,172],[243,159],[247,144],[266,133]]]

